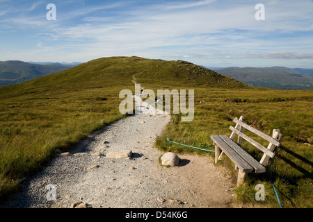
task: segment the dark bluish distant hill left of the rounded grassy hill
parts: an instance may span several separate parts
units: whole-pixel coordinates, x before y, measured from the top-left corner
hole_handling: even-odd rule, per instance
[[[0,86],[24,83],[33,78],[54,74],[74,65],[38,65],[22,61],[0,62]]]

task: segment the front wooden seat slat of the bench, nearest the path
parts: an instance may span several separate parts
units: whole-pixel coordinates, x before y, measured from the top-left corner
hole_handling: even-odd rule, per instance
[[[238,153],[236,153],[228,144],[226,144],[223,139],[220,139],[218,135],[211,135],[211,139],[214,141],[214,143],[220,147],[221,150],[224,151],[224,153],[230,157],[230,160],[236,164],[236,166],[243,172],[248,173],[253,171],[253,168],[246,162],[246,160],[243,159]]]

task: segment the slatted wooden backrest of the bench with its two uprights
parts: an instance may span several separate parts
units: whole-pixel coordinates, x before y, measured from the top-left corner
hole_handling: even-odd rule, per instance
[[[260,160],[260,164],[263,166],[266,166],[268,163],[268,160],[270,158],[274,157],[274,149],[276,146],[280,146],[280,137],[282,137],[282,134],[280,134],[280,130],[274,129],[273,135],[270,137],[269,135],[266,135],[265,133],[262,133],[261,131],[253,128],[252,126],[249,126],[248,124],[244,123],[245,116],[241,116],[239,119],[235,118],[233,121],[236,123],[235,127],[230,126],[230,130],[232,130],[232,135],[230,135],[230,139],[234,140],[234,137],[238,135],[238,144],[241,144],[242,138],[246,139],[246,141],[250,142],[253,146],[259,148],[260,151],[264,153],[262,156],[262,159]],[[243,133],[243,128],[246,128],[252,133],[255,133],[259,137],[262,137],[263,139],[266,139],[269,144],[267,148],[256,142],[255,140],[251,139],[247,135]]]

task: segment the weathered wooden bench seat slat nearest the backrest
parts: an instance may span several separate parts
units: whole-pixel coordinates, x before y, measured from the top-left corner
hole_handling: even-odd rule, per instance
[[[227,135],[220,135],[220,138],[224,140],[226,144],[228,144],[232,149],[238,153],[241,157],[243,157],[246,162],[248,162],[251,167],[255,169],[255,173],[264,173],[266,168],[260,164],[257,160],[255,160],[252,156],[249,155],[246,151],[243,150],[240,146],[238,146],[232,139],[227,137]]]

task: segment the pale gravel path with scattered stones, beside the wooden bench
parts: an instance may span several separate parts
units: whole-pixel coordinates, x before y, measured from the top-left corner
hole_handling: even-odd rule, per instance
[[[106,126],[70,153],[56,154],[1,207],[70,207],[79,202],[95,208],[234,207],[234,184],[214,167],[213,158],[179,155],[178,167],[159,165],[163,153],[154,142],[169,121],[169,114],[141,113]],[[106,157],[124,150],[132,151],[131,157]],[[56,200],[47,200],[49,185],[56,187]]]

